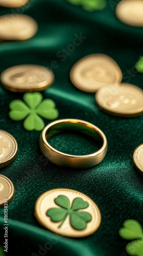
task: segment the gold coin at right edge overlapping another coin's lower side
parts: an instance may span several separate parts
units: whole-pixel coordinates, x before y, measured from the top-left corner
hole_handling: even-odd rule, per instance
[[[129,83],[112,84],[96,94],[98,105],[108,114],[135,117],[143,113],[143,91]]]

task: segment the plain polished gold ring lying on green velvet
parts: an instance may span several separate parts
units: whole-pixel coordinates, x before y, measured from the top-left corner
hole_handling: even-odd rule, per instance
[[[90,155],[68,155],[52,147],[48,140],[63,131],[76,131],[83,133],[99,143],[100,149]],[[78,119],[61,119],[48,124],[40,136],[40,150],[51,162],[73,168],[89,168],[99,164],[107,152],[107,139],[105,134],[92,123]]]

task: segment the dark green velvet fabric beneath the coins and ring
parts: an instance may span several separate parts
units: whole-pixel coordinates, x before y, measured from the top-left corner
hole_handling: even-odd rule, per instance
[[[39,27],[29,40],[0,44],[0,72],[24,63],[53,66],[55,82],[42,95],[44,99],[55,101],[58,119],[89,121],[100,127],[108,140],[107,155],[98,166],[84,170],[57,166],[42,156],[40,132],[28,132],[23,128],[23,121],[9,118],[9,103],[22,99],[22,94],[0,87],[0,129],[12,134],[18,143],[17,158],[0,170],[15,187],[14,198],[8,207],[6,255],[126,256],[127,241],[120,238],[118,230],[127,219],[135,219],[143,226],[143,181],[132,162],[135,148],[142,143],[143,117],[126,119],[101,112],[95,104],[94,94],[78,90],[69,79],[71,67],[80,58],[104,53],[121,67],[124,82],[143,89],[143,74],[135,74],[133,69],[142,55],[143,28],[121,23],[113,10],[117,2],[107,1],[104,10],[95,12],[86,12],[66,0],[32,0],[24,9],[0,9],[1,15],[14,12],[30,15]],[[81,44],[63,55],[62,48],[71,51],[73,48],[69,45],[80,35],[84,37]],[[46,125],[51,121],[44,122]],[[92,141],[68,133],[53,138],[51,143],[70,154],[88,154],[94,148]],[[98,231],[90,237],[73,239],[58,236],[40,226],[34,216],[35,202],[42,193],[54,188],[75,189],[96,202],[102,215]],[[3,208],[0,216],[0,244],[3,245]],[[46,249],[42,250],[44,246]]]

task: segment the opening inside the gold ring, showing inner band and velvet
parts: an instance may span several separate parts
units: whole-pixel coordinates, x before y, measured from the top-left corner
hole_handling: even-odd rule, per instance
[[[58,123],[47,130],[45,137],[52,147],[69,155],[89,155],[103,145],[101,135],[84,123]]]

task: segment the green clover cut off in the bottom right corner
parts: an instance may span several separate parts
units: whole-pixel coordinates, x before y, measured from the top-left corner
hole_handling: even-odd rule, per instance
[[[124,227],[119,230],[122,238],[127,240],[135,240],[126,246],[128,254],[133,256],[143,255],[143,230],[140,224],[135,220],[127,220]]]

